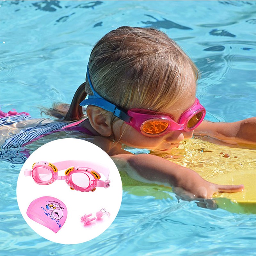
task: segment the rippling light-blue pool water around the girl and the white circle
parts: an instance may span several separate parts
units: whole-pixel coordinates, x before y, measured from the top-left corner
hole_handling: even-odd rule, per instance
[[[93,44],[123,25],[166,32],[201,70],[197,97],[213,121],[255,113],[255,2],[1,1],[1,109],[69,103]],[[23,220],[20,164],[1,161],[1,255],[256,255],[255,215],[199,208],[124,190],[120,211],[92,241],[55,244]],[[72,234],[70,234],[72,236]]]

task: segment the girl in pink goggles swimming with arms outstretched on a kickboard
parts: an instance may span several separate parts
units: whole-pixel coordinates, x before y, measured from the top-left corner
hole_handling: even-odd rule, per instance
[[[171,186],[185,199],[241,191],[243,185],[216,185],[159,156],[133,155],[122,149],[125,144],[171,152],[193,133],[232,144],[255,143],[255,118],[236,123],[203,121],[205,109],[196,99],[197,79],[194,63],[163,32],[117,28],[92,49],[86,81],[77,89],[71,105],[55,104],[50,110],[44,109],[58,121],[44,119],[35,126],[35,121],[28,119],[17,125],[13,121],[17,115],[4,117],[10,119],[9,125],[15,123],[21,128],[4,141],[2,150],[10,147],[10,140],[17,141],[18,136],[24,145],[52,132],[80,131],[84,139],[105,150],[120,171],[126,171],[135,180]],[[89,98],[84,100],[87,94]],[[82,106],[87,106],[87,118]],[[2,131],[7,131],[7,126],[2,125]],[[33,131],[36,132],[32,136]]]

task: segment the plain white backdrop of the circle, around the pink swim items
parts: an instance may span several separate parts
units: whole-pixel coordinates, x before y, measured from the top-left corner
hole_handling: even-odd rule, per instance
[[[107,166],[110,171],[110,187],[96,188],[94,192],[81,192],[71,190],[64,180],[56,180],[50,185],[38,185],[32,177],[24,175],[25,169],[31,170],[35,162],[54,163],[64,160],[88,160]],[[58,174],[62,176],[64,171]],[[67,207],[67,220],[56,234],[31,220],[26,213],[29,204],[41,196],[53,196]],[[99,236],[114,221],[122,201],[122,182],[116,165],[101,148],[79,139],[54,140],[33,152],[21,168],[17,182],[17,200],[23,218],[40,236],[56,243],[78,244]],[[95,213],[101,208],[110,212],[110,216],[104,215],[101,220],[94,220],[91,225],[84,226],[81,216],[92,213],[91,217],[95,217]]]

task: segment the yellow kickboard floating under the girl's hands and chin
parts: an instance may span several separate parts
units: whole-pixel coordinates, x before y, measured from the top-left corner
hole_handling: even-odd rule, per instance
[[[242,192],[215,194],[219,208],[256,214],[255,148],[228,147],[191,139],[181,143],[175,151],[178,158],[172,161],[198,172],[205,180],[220,185],[244,184]]]

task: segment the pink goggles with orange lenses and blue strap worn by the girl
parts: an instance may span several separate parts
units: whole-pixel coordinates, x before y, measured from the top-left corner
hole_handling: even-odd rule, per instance
[[[181,114],[177,123],[173,120],[171,115],[165,113],[159,113],[140,108],[133,108],[126,112],[108,100],[102,98],[94,90],[88,67],[87,77],[93,95],[89,95],[88,99],[83,100],[80,103],[80,106],[94,105],[110,111],[114,114],[114,116],[120,118],[126,124],[129,124],[143,135],[149,137],[158,137],[164,135],[167,132],[178,130],[189,132],[196,129],[196,127],[204,120],[206,111],[198,99],[195,100],[194,104],[190,108]]]

